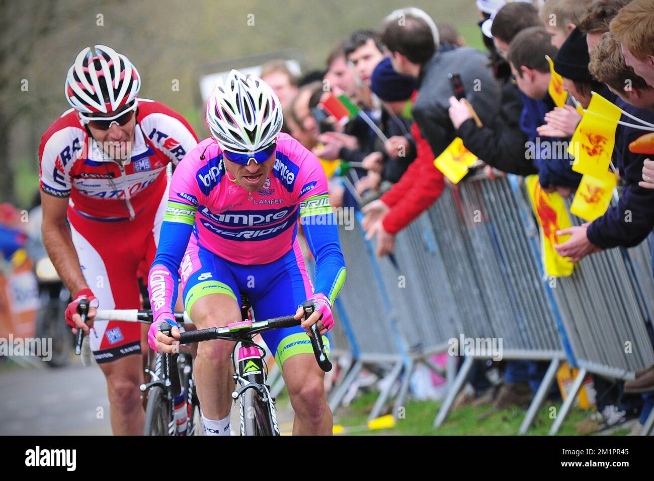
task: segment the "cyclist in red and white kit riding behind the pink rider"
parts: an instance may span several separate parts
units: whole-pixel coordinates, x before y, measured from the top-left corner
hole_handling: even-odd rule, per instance
[[[90,336],[107,379],[114,434],[141,434],[145,413],[141,340],[146,330],[123,321],[92,322],[95,308],[139,308],[137,270],[150,265],[167,202],[167,164],[177,164],[198,138],[177,112],[138,98],[141,77],[128,58],[95,45],[68,71],[72,109],[41,138],[43,242],[73,294],[66,322]],[[91,301],[89,323],[77,306]],[[143,349],[146,353],[146,347]]]

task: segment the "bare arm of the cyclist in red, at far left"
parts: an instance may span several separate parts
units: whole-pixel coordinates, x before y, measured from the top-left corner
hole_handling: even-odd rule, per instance
[[[71,238],[71,230],[66,224],[68,198],[58,198],[41,192],[43,221],[41,234],[48,257],[56,268],[64,285],[73,296],[88,285],[84,280],[77,251]]]

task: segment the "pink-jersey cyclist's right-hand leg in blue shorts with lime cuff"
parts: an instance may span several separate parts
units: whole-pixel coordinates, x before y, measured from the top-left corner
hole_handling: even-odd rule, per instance
[[[294,314],[298,305],[313,293],[298,241],[294,243],[294,249],[272,264],[250,267],[262,271],[254,274],[256,281],[265,279],[266,290],[259,294],[258,289],[254,289],[250,294],[257,319]],[[274,277],[266,279],[263,272],[272,272]],[[307,332],[298,326],[271,330],[262,335],[282,368],[295,410],[293,433],[331,435],[333,420],[324,392],[324,372],[316,363]],[[326,336],[323,340],[328,349],[329,340]]]

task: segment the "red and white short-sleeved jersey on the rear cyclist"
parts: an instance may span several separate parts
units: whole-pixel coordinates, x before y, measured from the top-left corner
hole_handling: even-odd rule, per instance
[[[139,99],[131,161],[118,164],[88,138],[70,109],[41,138],[41,190],[70,196],[69,208],[89,219],[129,219],[157,201],[166,188],[165,168],[198,143],[184,117],[160,102]]]

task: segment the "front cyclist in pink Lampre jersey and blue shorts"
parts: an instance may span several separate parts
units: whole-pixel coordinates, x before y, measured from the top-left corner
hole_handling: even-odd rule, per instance
[[[247,294],[258,319],[295,312],[313,300],[301,327],[264,333],[282,368],[296,419],[295,434],[331,434],[332,413],[307,331],[324,336],[334,325],[332,304],[345,280],[336,218],[320,162],[280,134],[281,107],[262,80],[233,70],[207,103],[213,137],[201,141],[173,174],[161,241],[148,277],[154,323],[150,346],[171,352],[178,271],[182,300],[198,329],[240,320]],[[316,259],[312,285],[298,243],[298,221]],[[187,246],[188,243],[188,246]],[[179,337],[173,327],[173,336]],[[200,343],[194,365],[207,434],[229,434],[232,343]]]

